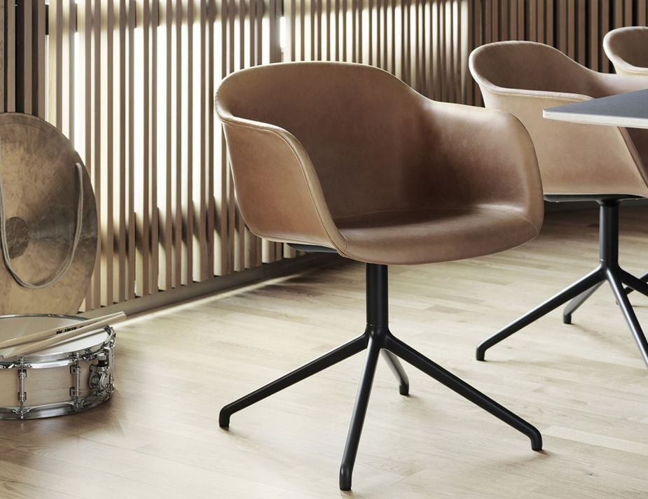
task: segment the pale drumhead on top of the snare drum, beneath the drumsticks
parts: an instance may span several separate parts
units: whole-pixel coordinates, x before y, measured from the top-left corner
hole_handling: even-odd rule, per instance
[[[0,316],[0,341],[31,335],[34,332],[59,328],[84,320],[85,317],[51,314]],[[24,356],[25,362],[61,360],[74,357],[76,353],[80,356],[93,353],[101,349],[106,342],[109,342],[112,335],[113,332],[108,327],[97,328],[97,330],[87,332],[85,335],[71,339],[69,342],[56,344],[36,353],[29,353],[29,355]],[[0,355],[4,356],[4,358],[0,359],[0,364],[15,363],[18,359],[12,357],[11,352],[16,348],[11,346],[7,349],[0,349]]]

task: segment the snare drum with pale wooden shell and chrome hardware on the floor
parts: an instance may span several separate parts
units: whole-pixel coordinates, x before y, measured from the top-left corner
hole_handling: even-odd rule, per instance
[[[0,341],[83,318],[47,314],[0,316]],[[97,328],[25,356],[0,350],[0,419],[34,419],[83,411],[113,393],[115,332]]]

